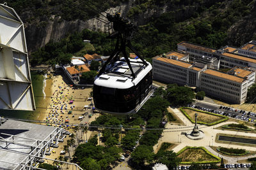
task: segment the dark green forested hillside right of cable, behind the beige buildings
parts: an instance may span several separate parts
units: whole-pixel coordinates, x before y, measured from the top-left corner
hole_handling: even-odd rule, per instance
[[[155,5],[150,3],[151,1],[136,2],[138,5],[129,11],[130,17],[136,18],[136,15],[140,15],[141,12]],[[250,14],[254,1],[173,0],[157,2],[170,4],[172,11],[152,17],[148,24],[139,28],[138,34],[133,39],[134,46],[143,56],[147,57],[154,57],[175,50],[180,41],[190,41],[212,48],[227,45],[228,29],[239,19]],[[193,8],[194,6],[194,12],[184,18],[179,18],[177,13],[180,10],[185,11],[185,6],[186,8]],[[175,7],[177,8],[175,9]]]

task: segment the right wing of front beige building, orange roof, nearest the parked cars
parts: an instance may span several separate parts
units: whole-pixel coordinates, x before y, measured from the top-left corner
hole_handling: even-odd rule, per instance
[[[214,69],[202,71],[200,89],[216,98],[229,103],[241,104],[246,99],[248,88],[255,81],[255,72],[234,67],[231,72],[223,73]]]

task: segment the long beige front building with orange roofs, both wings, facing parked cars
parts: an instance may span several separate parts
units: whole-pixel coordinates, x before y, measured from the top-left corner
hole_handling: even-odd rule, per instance
[[[223,73],[170,57],[156,56],[152,61],[155,80],[198,87],[205,94],[228,103],[244,103],[247,90],[255,81],[255,71],[247,67],[234,67],[228,73]]]

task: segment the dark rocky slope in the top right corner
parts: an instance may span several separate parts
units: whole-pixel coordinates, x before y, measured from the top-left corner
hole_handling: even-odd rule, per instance
[[[256,40],[256,1],[252,13],[236,22],[228,30],[228,44],[241,46],[250,40]]]

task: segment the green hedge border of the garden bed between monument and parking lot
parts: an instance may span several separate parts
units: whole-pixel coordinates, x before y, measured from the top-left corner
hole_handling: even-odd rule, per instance
[[[198,112],[202,112],[202,113],[207,113],[207,114],[209,114],[209,115],[214,115],[214,116],[217,116],[217,117],[223,117],[223,119],[218,120],[218,121],[216,121],[216,122],[212,122],[211,124],[208,124],[208,123],[206,123],[206,122],[197,122],[198,124],[216,125],[216,124],[220,124],[221,122],[225,122],[226,120],[228,120],[228,117],[223,116],[223,115],[218,115],[218,114],[215,114],[215,113],[210,113],[210,112],[207,112],[207,111],[201,111],[201,110],[196,110],[196,109],[187,108],[187,107],[182,107],[182,108],[180,108],[180,111],[182,111],[182,113],[183,113],[192,123],[195,123],[195,120],[192,120],[191,117],[189,117],[188,113],[186,113],[186,111],[184,111],[183,109],[189,109],[189,110],[194,110],[194,111],[198,111]]]

